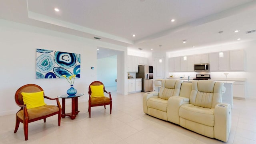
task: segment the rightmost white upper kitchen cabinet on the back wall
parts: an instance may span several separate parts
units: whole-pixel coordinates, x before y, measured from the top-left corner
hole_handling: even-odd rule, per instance
[[[244,50],[230,51],[230,70],[233,70],[233,71],[244,70]]]

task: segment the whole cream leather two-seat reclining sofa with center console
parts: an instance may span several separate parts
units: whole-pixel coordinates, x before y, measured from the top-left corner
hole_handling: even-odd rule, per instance
[[[222,82],[162,80],[160,92],[143,96],[144,113],[224,142],[231,127],[231,106],[222,103]]]

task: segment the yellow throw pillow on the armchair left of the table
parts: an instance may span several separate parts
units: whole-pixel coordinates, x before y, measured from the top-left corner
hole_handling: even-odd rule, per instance
[[[27,109],[46,105],[44,103],[44,91],[41,92],[22,92],[23,102]]]

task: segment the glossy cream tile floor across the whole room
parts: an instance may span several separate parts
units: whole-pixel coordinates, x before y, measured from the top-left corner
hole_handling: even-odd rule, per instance
[[[143,113],[142,93],[123,96],[112,92],[113,108],[93,107],[88,116],[88,103],[78,104],[76,119],[52,116],[29,124],[24,140],[23,124],[13,133],[15,114],[0,116],[0,144],[218,144],[224,143],[191,132],[178,125]],[[71,109],[66,106],[66,110]],[[256,101],[234,100],[232,128],[228,144],[256,144]]]

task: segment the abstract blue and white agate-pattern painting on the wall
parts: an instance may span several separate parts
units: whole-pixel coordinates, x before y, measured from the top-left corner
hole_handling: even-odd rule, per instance
[[[36,49],[36,78],[80,78],[80,54]]]

